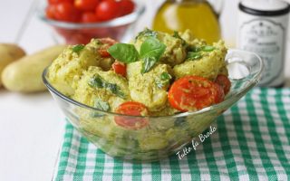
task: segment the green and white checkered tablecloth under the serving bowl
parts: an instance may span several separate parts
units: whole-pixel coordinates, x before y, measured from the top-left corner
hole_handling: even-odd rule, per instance
[[[290,89],[254,89],[186,157],[132,164],[114,159],[70,124],[54,180],[290,180]]]

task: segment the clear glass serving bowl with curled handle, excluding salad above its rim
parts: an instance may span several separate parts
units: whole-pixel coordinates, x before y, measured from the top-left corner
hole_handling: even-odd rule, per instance
[[[195,112],[164,117],[134,117],[97,110],[64,96],[46,79],[43,82],[67,119],[83,137],[112,157],[127,160],[154,161],[176,154],[241,99],[261,79],[264,63],[253,52],[229,50],[227,64],[232,87],[224,101]],[[147,119],[143,129],[124,129],[114,118]]]

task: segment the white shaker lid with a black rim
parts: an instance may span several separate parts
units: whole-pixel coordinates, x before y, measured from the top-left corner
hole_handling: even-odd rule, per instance
[[[282,0],[242,0],[239,9],[255,15],[283,15],[290,11],[290,5]]]

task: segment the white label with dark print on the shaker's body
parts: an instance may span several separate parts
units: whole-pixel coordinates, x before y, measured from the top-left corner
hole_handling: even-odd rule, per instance
[[[256,52],[265,62],[260,84],[270,84],[283,73],[285,29],[266,19],[254,19],[241,25],[240,48]]]

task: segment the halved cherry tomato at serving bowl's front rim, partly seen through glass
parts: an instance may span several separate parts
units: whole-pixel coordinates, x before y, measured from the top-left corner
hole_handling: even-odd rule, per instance
[[[116,110],[117,113],[129,115],[115,116],[115,122],[117,125],[126,129],[142,129],[149,124],[147,118],[131,118],[130,116],[147,116],[148,110],[146,106],[139,102],[127,101],[122,103]]]

